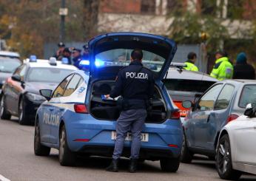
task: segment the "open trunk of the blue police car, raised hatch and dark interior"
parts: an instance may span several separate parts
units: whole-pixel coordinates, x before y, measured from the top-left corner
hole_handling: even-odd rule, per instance
[[[90,114],[99,120],[117,120],[120,110],[115,100],[103,100],[102,95],[110,94],[114,89],[118,71],[130,63],[133,49],[142,49],[144,58],[142,63],[151,69],[155,76],[155,94],[152,109],[148,111],[146,123],[162,123],[169,116],[167,112],[166,96],[161,79],[164,78],[172,57],[175,53],[175,44],[169,39],[155,35],[141,35],[129,33],[127,35],[101,35],[99,41],[90,44],[90,85],[87,92]],[[88,63],[86,63],[88,64]],[[131,75],[132,76],[132,75]]]

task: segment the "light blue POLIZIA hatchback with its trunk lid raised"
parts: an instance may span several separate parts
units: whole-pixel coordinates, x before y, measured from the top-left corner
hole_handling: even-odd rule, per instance
[[[175,42],[144,33],[109,33],[93,38],[89,48],[90,60],[81,64],[90,65],[90,72],[73,72],[53,92],[41,89],[47,101],[36,115],[35,154],[47,156],[50,148],[57,148],[61,165],[74,165],[78,154],[111,157],[120,111],[116,99],[104,100],[101,95],[110,93],[132,50],[142,49],[144,66],[155,75],[155,95],[141,135],[140,157],[160,160],[163,171],[177,171],[183,139],[180,112],[161,82],[175,54]],[[126,58],[120,61],[120,55]],[[128,134],[124,157],[129,157],[131,139]]]

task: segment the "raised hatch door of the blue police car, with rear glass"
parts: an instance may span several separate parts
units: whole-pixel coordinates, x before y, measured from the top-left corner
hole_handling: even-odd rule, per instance
[[[128,66],[133,49],[143,50],[142,64],[151,69],[155,81],[161,81],[176,52],[176,44],[169,38],[146,33],[108,33],[89,42],[90,79],[115,78]]]

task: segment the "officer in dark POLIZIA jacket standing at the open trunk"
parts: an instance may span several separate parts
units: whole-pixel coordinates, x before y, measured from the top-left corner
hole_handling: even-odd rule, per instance
[[[139,152],[141,148],[141,131],[144,128],[146,119],[146,105],[154,92],[154,78],[149,69],[141,63],[143,52],[135,49],[131,54],[129,66],[118,72],[115,81],[115,88],[106,98],[116,98],[119,95],[123,98],[121,115],[118,117],[115,140],[115,150],[112,155],[112,163],[107,167],[107,171],[118,171],[118,160],[121,157],[124,140],[127,132],[132,133],[131,156],[129,172],[137,170]]]

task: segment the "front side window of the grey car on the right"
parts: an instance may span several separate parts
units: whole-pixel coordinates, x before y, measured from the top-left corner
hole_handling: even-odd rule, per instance
[[[215,100],[218,98],[222,84],[217,84],[213,86],[209,91],[207,91],[203,97],[199,100],[198,111],[209,111],[213,110],[215,105]]]

